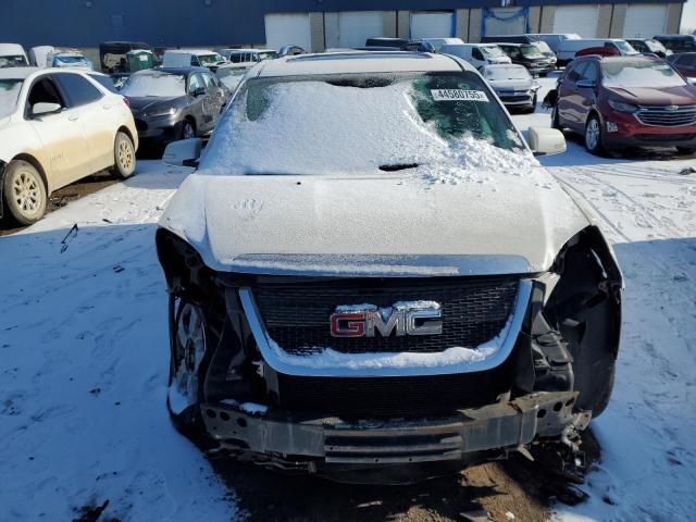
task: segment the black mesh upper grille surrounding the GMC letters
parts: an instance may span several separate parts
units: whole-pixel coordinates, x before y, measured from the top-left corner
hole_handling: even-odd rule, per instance
[[[471,277],[446,282],[351,279],[335,284],[268,285],[254,289],[261,320],[288,353],[332,348],[345,353],[437,352],[453,346],[475,348],[495,338],[512,313],[519,279]],[[397,301],[437,301],[443,333],[423,336],[335,338],[330,318],[340,304],[387,308]]]

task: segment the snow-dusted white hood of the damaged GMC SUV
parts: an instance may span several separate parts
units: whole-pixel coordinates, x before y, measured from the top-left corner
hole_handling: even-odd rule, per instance
[[[291,273],[310,274],[321,272],[327,259],[381,259],[389,265],[402,259],[485,261],[489,256],[515,260],[498,273],[549,269],[587,219],[544,169],[523,175],[496,172],[469,171],[456,181],[420,173],[199,172],[182,185],[160,225],[195,247],[208,266],[226,272],[279,273],[291,264]],[[349,264],[332,273],[347,275]],[[463,275],[452,269],[457,263],[446,264],[443,272],[431,268],[409,275]],[[468,274],[493,270],[485,262],[473,266],[482,270]]]

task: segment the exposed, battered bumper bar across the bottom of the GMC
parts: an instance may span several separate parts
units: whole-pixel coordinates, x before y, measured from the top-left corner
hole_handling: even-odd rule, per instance
[[[534,439],[584,430],[589,412],[573,412],[576,391],[535,393],[508,402],[457,410],[446,418],[360,420],[263,417],[236,406],[206,403],[201,415],[223,449],[250,452],[277,465],[316,471],[326,464],[410,464],[499,457]],[[487,457],[486,457],[487,456]]]

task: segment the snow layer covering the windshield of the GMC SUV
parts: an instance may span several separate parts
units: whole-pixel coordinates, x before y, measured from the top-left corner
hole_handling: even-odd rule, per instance
[[[473,136],[448,144],[434,124],[423,122],[411,88],[407,82],[372,88],[297,82],[261,94],[250,89],[219,125],[210,145],[213,153],[203,159],[201,171],[363,174],[383,165],[414,164],[427,182],[457,182],[469,179],[463,171],[505,173],[535,164],[517,136],[515,150]]]

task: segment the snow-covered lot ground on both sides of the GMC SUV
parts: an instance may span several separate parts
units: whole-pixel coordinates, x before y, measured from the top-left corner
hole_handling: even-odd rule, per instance
[[[545,113],[515,120],[549,122]],[[592,500],[556,515],[691,519],[696,176],[679,171],[696,160],[605,160],[570,142],[545,162],[597,211],[626,277],[617,386],[594,424],[604,455],[589,475]],[[0,238],[2,521],[70,520],[105,500],[105,518],[124,521],[240,514],[163,407],[166,297],[154,223],[186,173],[139,165],[127,183]]]

